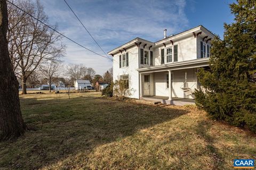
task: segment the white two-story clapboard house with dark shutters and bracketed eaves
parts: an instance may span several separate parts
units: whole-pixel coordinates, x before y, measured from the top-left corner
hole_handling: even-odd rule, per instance
[[[214,37],[199,25],[171,36],[164,30],[164,38],[155,43],[135,38],[108,52],[113,56],[114,81],[126,80],[131,98],[154,98],[167,104],[193,99],[199,88],[197,70],[209,66]]]

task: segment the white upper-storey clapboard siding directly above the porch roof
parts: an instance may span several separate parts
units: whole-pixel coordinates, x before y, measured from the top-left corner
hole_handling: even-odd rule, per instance
[[[162,46],[153,50],[154,64],[161,65],[161,49],[169,48],[178,45],[178,62],[195,60],[196,59],[196,38],[194,36],[183,38],[179,41],[174,41],[174,44],[167,44],[166,47]],[[166,53],[166,52],[165,52]],[[173,50],[174,53],[174,50]],[[172,55],[173,55],[172,53]],[[166,54],[165,54],[166,55]]]

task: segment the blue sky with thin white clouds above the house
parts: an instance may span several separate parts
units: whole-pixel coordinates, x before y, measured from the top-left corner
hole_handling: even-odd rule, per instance
[[[167,35],[204,25],[222,37],[223,23],[231,23],[228,4],[233,0],[170,0],[170,1],[103,1],[66,0],[100,46],[109,52],[136,37],[157,41]],[[49,16],[50,24],[58,24],[59,31],[87,48],[102,55],[89,34],[71,13],[63,0],[41,1]],[[63,38],[67,45],[66,64],[82,63],[103,74],[111,66],[111,60],[86,51]]]

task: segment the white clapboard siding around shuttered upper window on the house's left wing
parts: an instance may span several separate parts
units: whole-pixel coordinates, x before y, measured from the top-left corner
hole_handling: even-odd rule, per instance
[[[130,97],[139,98],[139,72],[137,71],[139,67],[138,47],[133,46],[132,48],[128,48],[127,52],[129,53],[129,66],[123,68],[119,68],[119,55],[121,53],[114,55],[113,80],[117,80],[120,75],[129,74],[129,88],[132,89],[132,96]]]

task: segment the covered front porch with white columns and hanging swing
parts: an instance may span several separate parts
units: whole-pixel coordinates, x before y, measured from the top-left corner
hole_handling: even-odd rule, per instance
[[[194,105],[193,92],[200,86],[197,70],[207,63],[165,66],[156,69],[138,69],[140,73],[140,99],[170,105]]]

